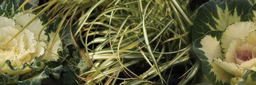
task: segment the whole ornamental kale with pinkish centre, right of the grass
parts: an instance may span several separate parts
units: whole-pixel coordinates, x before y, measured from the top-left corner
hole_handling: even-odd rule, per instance
[[[216,0],[203,4],[193,29],[193,49],[214,85],[255,85],[255,4]]]

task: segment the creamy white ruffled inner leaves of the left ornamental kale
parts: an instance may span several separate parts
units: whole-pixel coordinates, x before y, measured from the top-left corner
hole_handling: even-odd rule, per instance
[[[11,19],[0,16],[0,67],[2,67],[0,68],[0,74],[6,73],[7,75],[19,75],[30,72],[32,70],[31,68],[21,67],[23,67],[24,63],[31,65],[34,62],[35,56],[38,56],[41,60],[58,60],[59,57],[57,56],[57,51],[62,48],[61,40],[58,37],[54,43],[51,49],[54,54],[46,51],[43,47],[47,49],[50,47],[53,43],[55,33],[46,33],[43,31],[40,34],[39,43],[38,35],[43,27],[43,22],[40,21],[39,18],[35,19],[23,31],[18,33],[34,16],[34,14],[23,14],[23,12],[15,14]],[[17,33],[18,35],[12,39]],[[11,40],[10,43],[8,43],[9,40]],[[20,69],[11,69],[4,64],[6,60],[10,60],[11,65],[14,68]]]

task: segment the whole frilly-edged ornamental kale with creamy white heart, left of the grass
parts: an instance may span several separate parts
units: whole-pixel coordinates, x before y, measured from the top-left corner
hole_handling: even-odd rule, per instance
[[[45,14],[37,17],[39,10],[29,12],[38,6],[38,0],[18,8],[24,2],[0,1],[1,85],[39,85],[50,74],[59,79],[62,71],[62,50],[67,44],[55,33],[58,24],[47,24]]]

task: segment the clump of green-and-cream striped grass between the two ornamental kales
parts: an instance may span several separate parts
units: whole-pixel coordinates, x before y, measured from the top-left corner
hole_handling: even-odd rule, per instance
[[[63,0],[47,15],[60,15],[72,24],[73,42],[89,67],[79,68],[79,83],[165,84],[170,82],[173,71],[181,71],[184,75],[180,75],[177,84],[186,84],[199,67],[188,53],[193,24],[186,9],[189,3],[190,0]]]

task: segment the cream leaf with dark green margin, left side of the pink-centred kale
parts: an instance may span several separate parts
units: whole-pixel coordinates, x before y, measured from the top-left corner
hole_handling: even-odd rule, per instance
[[[203,37],[196,39],[193,50],[202,62],[202,70],[215,85],[227,85],[234,76],[222,67],[213,63],[213,59],[222,57],[220,39],[223,31],[209,31]]]

